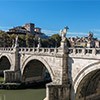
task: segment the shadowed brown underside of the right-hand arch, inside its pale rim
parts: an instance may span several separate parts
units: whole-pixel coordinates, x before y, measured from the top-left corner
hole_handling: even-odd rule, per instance
[[[100,100],[100,70],[94,70],[87,74],[80,82],[75,100]]]

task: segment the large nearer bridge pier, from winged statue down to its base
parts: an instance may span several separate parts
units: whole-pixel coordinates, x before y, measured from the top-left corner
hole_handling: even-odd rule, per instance
[[[60,76],[61,82],[53,81],[46,86],[46,98],[44,100],[71,100],[70,98],[70,82],[68,73],[68,48],[66,44],[66,27],[61,31],[62,41],[60,50],[62,53],[62,74]]]

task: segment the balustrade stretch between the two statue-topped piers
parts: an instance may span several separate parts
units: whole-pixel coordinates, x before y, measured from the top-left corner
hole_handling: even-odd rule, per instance
[[[57,53],[58,48],[19,48],[19,52],[30,52],[30,53]]]

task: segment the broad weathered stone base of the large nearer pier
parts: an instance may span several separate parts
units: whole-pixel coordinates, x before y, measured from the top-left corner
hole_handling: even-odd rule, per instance
[[[46,93],[44,100],[70,100],[70,86],[68,85],[47,84]]]

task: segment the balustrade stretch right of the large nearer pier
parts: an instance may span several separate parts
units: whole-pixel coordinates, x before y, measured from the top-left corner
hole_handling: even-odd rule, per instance
[[[100,54],[100,48],[69,48],[69,54]]]

